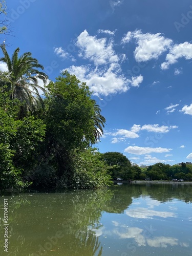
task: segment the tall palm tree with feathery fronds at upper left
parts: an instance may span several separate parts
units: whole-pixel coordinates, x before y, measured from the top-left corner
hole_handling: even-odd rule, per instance
[[[18,57],[19,48],[17,48],[12,58],[10,58],[5,45],[1,45],[4,57],[0,61],[7,64],[7,78],[8,78],[8,91],[10,92],[11,99],[19,99],[20,102],[25,104],[27,111],[34,112],[42,102],[38,89],[45,92],[45,89],[39,86],[38,79],[46,83],[48,76],[39,71],[44,67],[38,63],[38,60],[32,58],[30,52],[26,52]],[[24,108],[24,106],[23,106]]]

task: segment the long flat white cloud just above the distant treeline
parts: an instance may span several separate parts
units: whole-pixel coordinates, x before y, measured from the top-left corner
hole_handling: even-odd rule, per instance
[[[129,146],[125,148],[124,152],[136,155],[144,155],[150,153],[164,153],[169,152],[170,150],[172,150],[172,148]]]

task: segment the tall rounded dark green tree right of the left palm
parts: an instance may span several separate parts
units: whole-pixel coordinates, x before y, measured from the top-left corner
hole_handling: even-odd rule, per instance
[[[62,179],[63,186],[69,187],[74,175],[74,150],[97,142],[95,129],[102,126],[103,119],[89,87],[67,71],[48,84],[44,101],[47,131],[41,164],[45,169],[46,165],[51,167],[50,177],[55,176],[56,183]]]

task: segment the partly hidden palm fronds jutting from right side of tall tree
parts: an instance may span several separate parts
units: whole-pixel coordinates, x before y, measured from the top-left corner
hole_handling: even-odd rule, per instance
[[[95,141],[99,140],[103,134],[104,123],[106,122],[104,116],[100,114],[101,109],[95,100],[92,100],[94,103],[94,115],[92,116],[94,122],[94,137]]]

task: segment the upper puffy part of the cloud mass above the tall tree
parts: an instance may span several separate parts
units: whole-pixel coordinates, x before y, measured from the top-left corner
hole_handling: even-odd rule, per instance
[[[77,37],[76,45],[80,48],[79,56],[93,61],[95,66],[119,61],[112,40],[107,42],[106,38],[90,36],[87,30]]]

